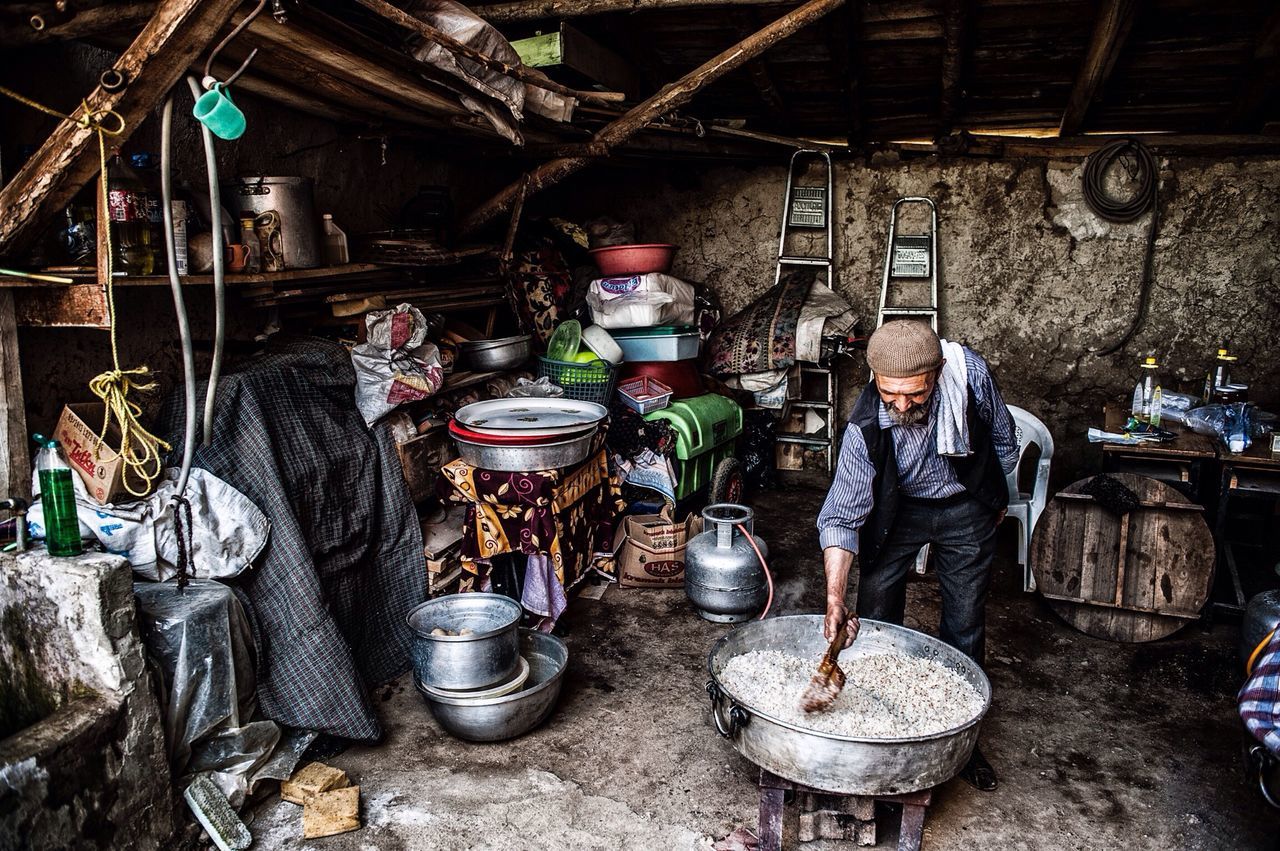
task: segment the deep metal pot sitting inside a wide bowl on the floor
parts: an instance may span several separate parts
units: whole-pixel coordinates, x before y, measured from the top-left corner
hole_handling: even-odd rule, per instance
[[[500,594],[449,594],[408,613],[413,676],[433,688],[484,688],[520,669],[520,603]],[[471,635],[431,635],[434,628]]]

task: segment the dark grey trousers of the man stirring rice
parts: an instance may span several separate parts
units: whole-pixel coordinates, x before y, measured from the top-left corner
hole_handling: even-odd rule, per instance
[[[938,636],[979,665],[987,644],[987,590],[996,553],[996,514],[972,497],[954,503],[902,500],[888,539],[858,582],[858,617],[902,623],[906,576],[925,544],[933,545],[942,623]]]

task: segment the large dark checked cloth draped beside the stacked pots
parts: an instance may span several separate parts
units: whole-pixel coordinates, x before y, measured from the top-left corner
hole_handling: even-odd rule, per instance
[[[204,386],[198,397],[204,399]],[[182,452],[180,389],[161,434]],[[372,741],[366,692],[408,667],[406,616],[426,599],[413,503],[385,425],[365,426],[355,371],[333,343],[275,343],[218,386],[214,441],[195,465],[271,521],[260,562],[229,582],[257,646],[262,713]]]

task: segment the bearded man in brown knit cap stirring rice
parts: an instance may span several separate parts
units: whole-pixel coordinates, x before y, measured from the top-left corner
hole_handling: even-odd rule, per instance
[[[932,544],[942,590],[940,636],[982,664],[996,526],[1009,505],[1005,475],[1018,463],[1012,417],[987,362],[966,347],[943,347],[924,322],[882,325],[868,342],[867,363],[874,380],[854,406],[818,514],[824,632],[831,640],[847,623],[849,646],[858,617],[902,623],[908,572]],[[961,434],[966,426],[968,447],[940,443],[948,424],[959,424]],[[855,563],[858,616],[851,617],[845,591]],[[963,777],[996,788],[996,773],[978,750]]]

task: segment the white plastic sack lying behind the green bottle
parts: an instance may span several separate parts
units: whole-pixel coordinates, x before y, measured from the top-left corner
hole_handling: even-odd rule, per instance
[[[178,468],[165,470],[155,493],[143,499],[100,505],[84,480],[72,476],[81,536],[97,539],[109,552],[129,561],[133,572],[163,581],[177,576],[178,536],[173,527]],[[32,475],[32,490],[40,480]],[[271,521],[253,502],[207,470],[192,468],[187,480],[191,502],[193,572],[198,578],[230,578],[247,569],[266,546]],[[45,511],[38,502],[27,512],[32,537],[45,536]]]

